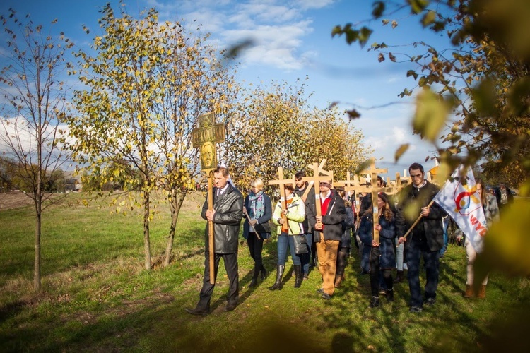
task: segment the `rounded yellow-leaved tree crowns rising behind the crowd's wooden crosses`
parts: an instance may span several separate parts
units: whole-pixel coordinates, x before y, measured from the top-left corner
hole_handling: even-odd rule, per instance
[[[367,159],[363,134],[341,118],[336,108],[310,107],[305,86],[272,82],[269,88],[247,90],[230,114],[229,149],[222,151],[232,179],[246,190],[254,177],[286,177],[326,158],[326,169],[346,177]]]

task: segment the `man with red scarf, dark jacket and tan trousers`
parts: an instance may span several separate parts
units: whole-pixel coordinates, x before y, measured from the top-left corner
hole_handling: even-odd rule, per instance
[[[322,275],[321,293],[323,299],[330,299],[335,292],[335,275],[338,244],[342,237],[342,222],[346,219],[344,201],[335,190],[331,190],[331,180],[320,181],[320,201],[322,215],[307,210],[307,220],[314,229],[314,241],[317,242],[319,271]]]

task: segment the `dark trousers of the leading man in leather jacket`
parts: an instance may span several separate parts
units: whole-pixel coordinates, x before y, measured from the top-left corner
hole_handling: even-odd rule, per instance
[[[197,303],[196,309],[209,311],[210,310],[210,299],[211,294],[213,293],[213,288],[216,285],[210,283],[210,253],[206,251],[205,260],[204,260],[204,279],[202,281],[202,289],[199,294],[199,303]],[[230,288],[228,289],[227,301],[228,304],[237,304],[239,299],[239,276],[237,273],[237,253],[216,253],[214,255],[214,269],[216,273],[214,274],[214,282],[217,278],[219,261],[220,258],[223,258],[225,263],[226,274],[228,275],[228,280],[230,280]]]

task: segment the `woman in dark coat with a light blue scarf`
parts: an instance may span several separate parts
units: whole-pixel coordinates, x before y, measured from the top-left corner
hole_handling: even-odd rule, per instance
[[[261,273],[261,280],[264,280],[269,272],[263,265],[261,251],[263,241],[271,237],[271,226],[269,220],[272,217],[271,198],[263,191],[263,180],[257,178],[250,183],[249,195],[245,198],[243,205],[243,237],[247,239],[250,257],[254,260],[254,274],[249,287],[258,284],[258,275]]]

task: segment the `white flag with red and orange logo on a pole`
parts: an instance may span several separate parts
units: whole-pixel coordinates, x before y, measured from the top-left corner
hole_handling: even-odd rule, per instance
[[[460,166],[454,171],[437,193],[434,201],[452,217],[454,222],[457,222],[461,231],[466,234],[466,238],[471,241],[473,249],[481,253],[483,237],[487,231],[481,196],[476,191],[473,170],[469,168],[465,177],[459,177],[462,169],[463,166]]]

